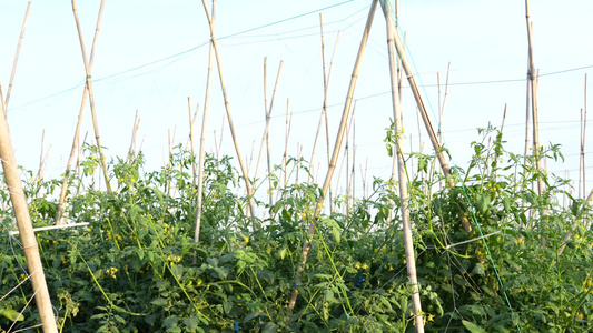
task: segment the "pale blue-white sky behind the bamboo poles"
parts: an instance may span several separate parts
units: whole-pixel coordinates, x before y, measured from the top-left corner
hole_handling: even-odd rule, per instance
[[[255,142],[253,164],[256,164],[264,132],[265,57],[268,100],[278,64],[284,61],[270,123],[273,163],[279,164],[281,160],[287,99],[290,101],[289,111],[294,112],[289,154],[297,155],[297,147],[302,147],[304,158],[310,159],[323,103],[319,12],[325,24],[328,65],[337,32],[340,32],[328,95],[328,104],[332,105],[328,113],[330,143],[334,144],[370,2],[217,1],[216,36],[223,57],[223,74],[246,162],[249,162]],[[88,54],[99,3],[98,0],[78,1]],[[0,1],[0,82],[4,95],[26,8],[27,1]],[[323,8],[326,9],[320,10]],[[398,13],[418,82],[426,85],[424,98],[426,104],[432,105],[433,111],[429,112],[434,114],[435,127],[437,72],[444,84],[447,64],[452,63],[443,131],[454,162],[466,168],[470,142],[478,139],[475,129],[486,127],[488,121],[500,127],[505,103],[507,149],[522,153],[527,69],[524,2],[399,1]],[[569,170],[575,180],[584,77],[593,72],[593,44],[590,42],[593,37],[592,13],[593,2],[589,0],[562,4],[548,0],[531,3],[535,67],[542,74],[541,142],[563,145],[566,163],[551,165],[550,170],[561,175]],[[251,30],[263,26],[267,27]],[[237,34],[239,32],[244,33]],[[201,1],[106,1],[92,79],[101,140],[108,148],[108,158],[122,157],[127,152],[136,110],[141,118],[138,141],[144,140],[147,170],[162,165],[169,130],[172,132],[175,129],[176,142],[186,142],[188,97],[194,108],[200,104],[195,125],[195,135],[199,134],[208,37]],[[355,93],[355,99],[358,99],[354,114],[358,188],[362,184],[360,165],[363,169],[368,165],[368,181],[372,181],[372,175],[387,178],[391,172],[391,161],[383,143],[385,128],[393,117],[388,73],[385,20],[379,9]],[[220,134],[225,113],[216,72],[214,78],[206,138],[207,151],[210,152],[214,150],[214,131]],[[83,79],[85,68],[70,1],[31,1],[8,107],[19,164],[37,172],[45,130],[45,151],[51,145],[46,173],[56,178],[63,172],[79,113]],[[408,140],[409,135],[413,137],[413,149],[418,150],[415,103],[407,84],[403,101],[406,135]],[[589,118],[592,117],[590,114]],[[93,132],[88,105],[85,132],[88,132],[87,140],[91,141]],[[421,133],[424,135],[424,127]],[[592,137],[593,133],[587,135],[587,142]],[[426,137],[424,141],[426,152],[429,143]],[[314,163],[316,170],[317,163],[324,161],[325,149],[324,140],[318,143]],[[224,130],[223,153],[235,157],[228,128]],[[591,163],[593,161],[587,164]],[[592,173],[589,172],[587,179],[593,180]],[[324,175],[322,168],[318,182],[323,182]]]

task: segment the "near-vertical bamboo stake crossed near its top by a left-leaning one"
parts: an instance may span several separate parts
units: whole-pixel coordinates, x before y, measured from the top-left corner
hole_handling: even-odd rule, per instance
[[[216,18],[216,0],[213,0],[213,33],[215,29],[215,18]],[[200,228],[201,228],[201,210],[202,210],[202,198],[204,198],[204,164],[205,164],[205,143],[206,143],[206,129],[208,123],[208,111],[210,109],[210,87],[213,83],[213,62],[214,62],[214,52],[213,43],[209,43],[208,48],[208,73],[206,75],[206,94],[204,97],[204,115],[201,118],[201,133],[200,133],[200,151],[199,151],[199,165],[198,165],[198,190],[197,190],[197,203],[196,203],[196,230],[194,231],[194,242],[199,243],[200,241]],[[224,120],[224,118],[223,118]],[[215,149],[216,149],[216,131],[214,135]],[[217,153],[218,161],[218,153]],[[194,255],[194,263],[196,263],[196,255]]]

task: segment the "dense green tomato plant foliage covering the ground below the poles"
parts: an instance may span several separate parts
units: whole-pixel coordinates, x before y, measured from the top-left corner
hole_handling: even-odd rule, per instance
[[[397,135],[388,133],[393,149]],[[454,188],[435,171],[434,155],[412,154],[417,170],[406,170],[426,330],[591,331],[587,203],[565,191],[566,180],[537,171],[536,157],[506,152],[495,129],[478,134],[467,169],[454,169]],[[537,155],[562,157],[554,145]],[[275,186],[268,195],[276,200],[256,201],[265,212],[257,219],[246,215],[247,198],[236,194],[240,179],[230,158],[208,155],[196,243],[195,162],[180,147],[159,171],[145,171],[141,154],[116,159],[109,170],[117,191],[107,194],[93,183],[97,148],[86,147],[83,173],[71,174],[66,215],[89,225],[38,233],[61,331],[414,330],[397,182],[375,179],[372,195],[347,209],[337,198],[334,212],[317,219],[316,184],[280,185],[281,172],[308,173],[304,161],[290,159],[291,171],[268,175]],[[33,222],[50,225],[61,182],[27,174]],[[537,180],[545,184],[542,195],[531,190]],[[256,189],[260,181],[253,182]],[[571,204],[564,208],[559,195]],[[8,196],[0,208],[2,228],[10,229]],[[462,219],[472,232],[461,228]],[[295,284],[306,240],[310,253]],[[37,325],[36,307],[26,306],[31,285],[19,285],[27,279],[23,252],[12,238],[0,249],[0,327]]]

